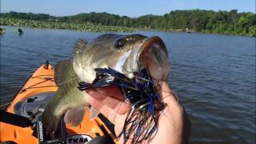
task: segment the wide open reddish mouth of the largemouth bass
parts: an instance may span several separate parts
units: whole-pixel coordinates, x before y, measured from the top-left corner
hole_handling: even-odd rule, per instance
[[[169,70],[169,58],[166,45],[161,38],[154,36],[147,38],[138,50],[137,62],[150,71],[155,80],[166,81]]]

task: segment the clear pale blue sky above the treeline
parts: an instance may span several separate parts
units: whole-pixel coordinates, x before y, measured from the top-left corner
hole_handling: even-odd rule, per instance
[[[171,10],[238,10],[255,13],[255,0],[0,0],[1,12],[32,12],[54,16],[90,12],[139,17]]]

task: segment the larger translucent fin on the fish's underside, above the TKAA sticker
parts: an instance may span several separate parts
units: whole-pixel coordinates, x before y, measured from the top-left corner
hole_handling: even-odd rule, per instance
[[[69,109],[66,111],[64,122],[70,123],[71,126],[78,126],[83,119],[83,116],[86,114],[86,107],[78,107],[76,109]]]

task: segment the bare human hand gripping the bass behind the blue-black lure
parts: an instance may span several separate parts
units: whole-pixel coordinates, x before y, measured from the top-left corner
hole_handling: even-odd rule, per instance
[[[190,121],[186,111],[177,102],[176,97],[166,82],[159,82],[160,96],[166,108],[158,119],[158,130],[145,143],[188,143],[190,136]],[[120,134],[124,125],[130,104],[124,102],[124,96],[117,86],[107,86],[87,90],[92,106],[114,124],[116,134]],[[123,138],[119,139],[123,143]],[[127,143],[130,143],[128,141]]]

